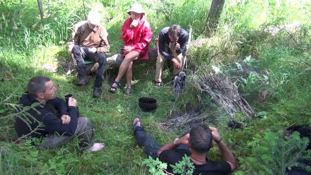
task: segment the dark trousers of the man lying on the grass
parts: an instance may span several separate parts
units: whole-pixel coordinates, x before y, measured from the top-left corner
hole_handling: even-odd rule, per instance
[[[187,134],[187,133],[185,133],[185,134]],[[147,135],[145,133],[145,130],[142,127],[136,126],[134,128],[134,134],[136,136],[136,140],[138,141],[139,145],[144,147],[146,155],[148,157],[151,156],[153,159],[155,159],[157,157],[157,151],[163,145],[159,144],[152,136]],[[184,136],[185,134],[183,134],[182,136]],[[182,136],[180,136],[180,137],[182,137]],[[190,152],[190,150],[187,147],[187,145],[184,145],[184,144],[179,145],[175,149],[187,150],[187,151]]]

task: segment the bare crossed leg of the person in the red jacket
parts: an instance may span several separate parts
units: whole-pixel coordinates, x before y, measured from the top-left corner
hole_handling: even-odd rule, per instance
[[[123,77],[124,73],[128,70],[129,68],[129,64],[132,62],[133,64],[133,61],[134,60],[137,60],[138,58],[138,55],[139,53],[136,52],[136,51],[132,51],[130,53],[127,53],[125,55],[125,58],[123,60],[123,62],[121,63],[120,65],[120,68],[119,68],[119,73],[118,73],[118,76],[116,78],[116,81],[117,82],[120,82],[121,81],[121,78]],[[132,72],[132,71],[131,71]],[[132,83],[131,83],[132,84]],[[113,83],[112,86],[117,86],[117,84]],[[111,90],[114,90],[113,88],[111,88]]]

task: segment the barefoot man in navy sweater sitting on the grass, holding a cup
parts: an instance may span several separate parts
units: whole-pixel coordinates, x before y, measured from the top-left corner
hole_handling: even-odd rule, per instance
[[[50,78],[33,77],[19,104],[34,108],[19,116],[15,121],[18,137],[46,138],[40,148],[53,149],[59,144],[67,143],[77,136],[82,151],[99,151],[104,143],[94,143],[94,129],[85,117],[78,118],[77,100],[69,98],[68,104],[56,97],[57,88]],[[59,115],[58,115],[59,114]]]

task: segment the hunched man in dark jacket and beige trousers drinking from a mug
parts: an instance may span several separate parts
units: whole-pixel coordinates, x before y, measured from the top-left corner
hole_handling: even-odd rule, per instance
[[[165,27],[160,31],[156,44],[155,86],[161,86],[161,76],[166,60],[173,62],[173,76],[178,75],[181,69],[182,53],[188,38],[188,32],[176,24],[171,27]]]

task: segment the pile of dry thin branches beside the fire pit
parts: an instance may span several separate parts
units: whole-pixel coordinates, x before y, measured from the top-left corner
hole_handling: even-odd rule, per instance
[[[250,119],[256,117],[252,107],[240,96],[237,85],[228,77],[222,78],[219,74],[204,73],[196,79],[194,86],[201,91],[206,91],[231,118],[239,109]]]

